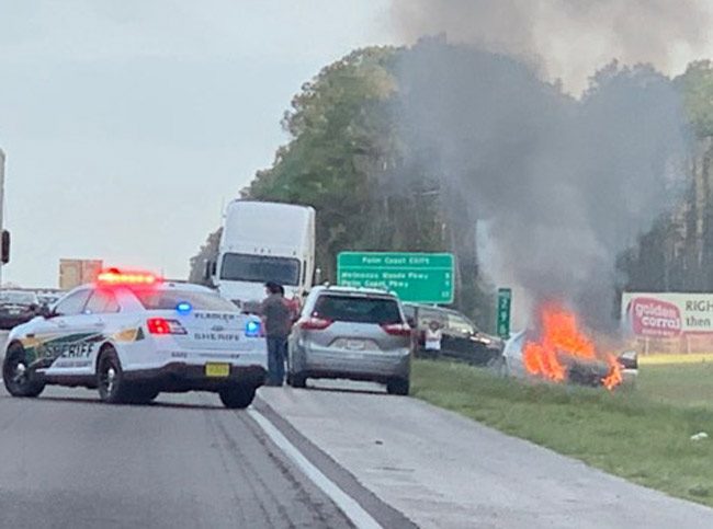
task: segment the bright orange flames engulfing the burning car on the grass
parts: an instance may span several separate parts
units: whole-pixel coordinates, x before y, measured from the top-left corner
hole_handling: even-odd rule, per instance
[[[550,304],[543,308],[542,334],[539,342],[528,342],[523,349],[524,367],[531,375],[562,382],[567,378],[565,356],[586,361],[597,361],[595,343],[579,330],[577,317],[564,308]],[[607,389],[622,381],[616,359],[609,355],[609,375],[601,380]]]

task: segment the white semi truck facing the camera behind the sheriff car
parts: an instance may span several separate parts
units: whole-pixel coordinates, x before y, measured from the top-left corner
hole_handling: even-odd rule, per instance
[[[246,312],[264,298],[267,281],[282,285],[285,297],[299,303],[315,280],[315,217],[309,206],[233,200],[206,276]]]

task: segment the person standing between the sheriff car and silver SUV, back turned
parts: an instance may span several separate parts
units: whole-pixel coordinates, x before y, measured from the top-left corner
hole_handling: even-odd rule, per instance
[[[260,313],[268,340],[268,380],[265,386],[282,386],[285,378],[287,335],[292,327],[292,314],[276,283],[267,283],[268,297],[262,301]]]

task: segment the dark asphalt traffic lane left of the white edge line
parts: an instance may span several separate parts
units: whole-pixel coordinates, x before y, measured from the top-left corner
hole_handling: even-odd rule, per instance
[[[246,412],[0,392],[0,527],[350,527]]]

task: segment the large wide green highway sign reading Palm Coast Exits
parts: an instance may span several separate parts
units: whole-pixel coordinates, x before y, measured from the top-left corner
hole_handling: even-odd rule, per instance
[[[347,287],[393,290],[403,301],[453,302],[450,253],[342,252],[337,256],[337,283]]]

